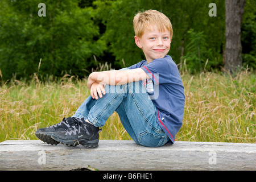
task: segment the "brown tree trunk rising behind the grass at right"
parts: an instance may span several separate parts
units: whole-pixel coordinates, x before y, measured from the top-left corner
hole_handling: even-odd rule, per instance
[[[226,0],[226,48],[224,68],[233,73],[242,67],[241,24],[246,0]]]

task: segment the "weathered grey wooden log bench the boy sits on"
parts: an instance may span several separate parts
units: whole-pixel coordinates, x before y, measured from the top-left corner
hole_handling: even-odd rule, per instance
[[[158,148],[133,140],[100,140],[99,147],[51,146],[40,140],[0,143],[0,170],[255,170],[256,144],[175,142]]]

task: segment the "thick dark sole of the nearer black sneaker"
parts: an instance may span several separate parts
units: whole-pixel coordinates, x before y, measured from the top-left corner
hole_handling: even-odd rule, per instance
[[[81,144],[85,148],[97,148],[98,147],[98,139],[91,140],[91,141],[81,139],[80,141],[77,141],[77,140],[62,140],[62,139],[59,139],[55,135],[52,135],[51,137],[53,140],[56,140],[57,142],[60,142],[61,144],[65,144],[66,146],[75,147],[78,144]]]

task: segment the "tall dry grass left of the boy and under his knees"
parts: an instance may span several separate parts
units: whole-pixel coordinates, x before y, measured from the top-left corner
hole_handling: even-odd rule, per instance
[[[51,79],[49,79],[51,80]],[[9,139],[38,139],[35,131],[71,117],[90,95],[86,80],[65,75],[58,81],[11,80],[0,88],[0,142]],[[118,114],[109,118],[101,139],[130,139]]]

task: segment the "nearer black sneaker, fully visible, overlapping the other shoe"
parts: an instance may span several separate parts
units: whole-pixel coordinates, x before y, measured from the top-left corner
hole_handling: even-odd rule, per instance
[[[79,121],[76,125],[69,127],[69,129],[55,131],[52,134],[52,139],[67,146],[75,147],[81,144],[86,148],[98,147],[99,127],[84,121],[84,118],[79,119]]]

